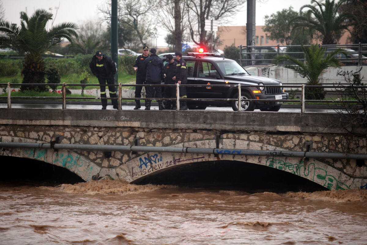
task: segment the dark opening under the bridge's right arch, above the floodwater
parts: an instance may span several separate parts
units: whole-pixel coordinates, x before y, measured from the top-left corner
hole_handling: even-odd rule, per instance
[[[235,169],[235,171],[233,171]],[[322,191],[327,188],[283,170],[239,161],[207,161],[178,165],[133,181],[180,187],[255,192]]]

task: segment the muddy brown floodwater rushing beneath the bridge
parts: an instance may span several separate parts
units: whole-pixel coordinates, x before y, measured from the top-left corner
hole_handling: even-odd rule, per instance
[[[0,244],[367,244],[367,190],[0,183]]]

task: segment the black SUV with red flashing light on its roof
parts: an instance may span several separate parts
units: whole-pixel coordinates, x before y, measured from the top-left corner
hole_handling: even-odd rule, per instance
[[[166,65],[166,57],[161,57]],[[201,84],[206,86],[186,87],[188,98],[205,99],[238,99],[237,86],[211,86],[221,85],[253,85],[241,87],[242,99],[287,100],[288,93],[282,87],[261,87],[262,85],[280,85],[279,80],[250,75],[240,64],[234,60],[219,57],[215,54],[188,53],[182,58],[187,63],[188,84]],[[238,110],[237,101],[196,100],[187,102],[189,109],[206,109],[208,105],[232,106]],[[242,111],[279,111],[282,102],[242,101]]]

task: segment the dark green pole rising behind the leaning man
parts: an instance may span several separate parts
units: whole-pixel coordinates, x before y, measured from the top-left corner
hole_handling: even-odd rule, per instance
[[[117,0],[111,1],[111,58],[116,63],[116,68],[119,67],[119,55],[118,52],[118,25],[117,25]],[[115,73],[115,84],[119,80],[119,71],[117,69]]]

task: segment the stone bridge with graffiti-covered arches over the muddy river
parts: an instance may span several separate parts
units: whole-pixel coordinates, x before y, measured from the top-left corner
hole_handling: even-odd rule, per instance
[[[206,161],[255,163],[318,183],[330,190],[366,188],[364,160],[239,155],[239,149],[366,154],[366,140],[324,128],[337,114],[227,111],[117,111],[0,108],[0,142],[141,145],[232,149],[218,154],[70,151],[1,147],[0,155],[65,167],[86,181],[93,176],[138,183],[173,167]],[[5,163],[3,163],[5,164]],[[16,168],[16,166],[14,166]],[[235,170],[234,170],[235,171]],[[261,178],[261,176],[259,176]]]

